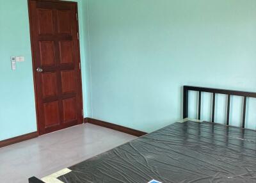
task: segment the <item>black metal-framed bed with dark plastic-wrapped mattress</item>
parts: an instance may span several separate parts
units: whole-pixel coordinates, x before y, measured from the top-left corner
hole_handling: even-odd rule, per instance
[[[213,93],[212,122],[188,118],[188,91]],[[70,166],[44,182],[256,182],[256,132],[244,129],[256,93],[184,86],[184,120]],[[227,123],[214,123],[214,95],[226,94]],[[244,97],[241,127],[229,125],[230,95]],[[41,183],[31,177],[29,183]]]

